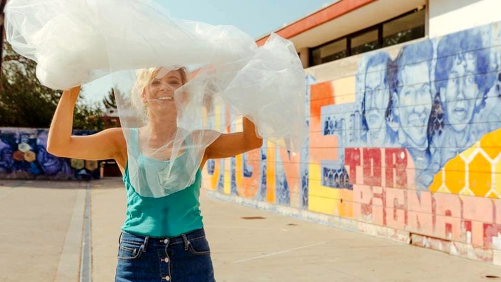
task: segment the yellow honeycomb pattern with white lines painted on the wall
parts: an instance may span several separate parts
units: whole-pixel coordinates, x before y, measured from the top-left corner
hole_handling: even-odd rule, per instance
[[[431,192],[501,198],[501,129],[485,134],[435,175]],[[497,184],[497,187],[496,187]]]

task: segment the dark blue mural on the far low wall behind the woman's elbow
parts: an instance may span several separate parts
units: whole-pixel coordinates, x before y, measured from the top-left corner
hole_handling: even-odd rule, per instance
[[[0,128],[0,179],[99,179],[99,162],[47,152],[48,129]],[[75,135],[94,132],[74,131]]]

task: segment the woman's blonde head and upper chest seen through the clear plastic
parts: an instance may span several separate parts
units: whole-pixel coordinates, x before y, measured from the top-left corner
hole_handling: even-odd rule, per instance
[[[130,100],[141,122],[125,124],[124,135],[129,145],[127,173],[132,176],[132,186],[139,194],[166,196],[195,181],[198,167],[204,163],[205,150],[220,134],[188,130],[186,128],[193,125],[185,123],[180,127],[178,124],[178,117],[189,103],[186,88],[182,88],[188,83],[184,67],[139,70],[136,77]],[[123,112],[124,105],[117,104]]]

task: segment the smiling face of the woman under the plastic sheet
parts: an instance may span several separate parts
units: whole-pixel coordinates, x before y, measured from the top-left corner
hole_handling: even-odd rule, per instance
[[[175,111],[174,92],[183,86],[180,70],[159,70],[149,85],[144,89],[142,99],[148,107],[148,111]],[[176,97],[177,99],[177,97]]]

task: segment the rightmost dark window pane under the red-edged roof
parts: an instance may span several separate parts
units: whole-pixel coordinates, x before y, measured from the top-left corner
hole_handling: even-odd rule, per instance
[[[424,9],[383,25],[383,47],[424,37]]]

